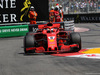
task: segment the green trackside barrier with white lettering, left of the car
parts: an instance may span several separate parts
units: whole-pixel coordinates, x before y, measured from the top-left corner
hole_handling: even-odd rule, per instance
[[[29,32],[28,25],[1,26],[0,37],[24,36]]]

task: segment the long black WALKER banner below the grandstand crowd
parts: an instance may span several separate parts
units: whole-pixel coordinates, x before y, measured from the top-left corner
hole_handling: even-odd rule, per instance
[[[74,20],[75,23],[100,23],[100,13],[66,14],[64,19]]]

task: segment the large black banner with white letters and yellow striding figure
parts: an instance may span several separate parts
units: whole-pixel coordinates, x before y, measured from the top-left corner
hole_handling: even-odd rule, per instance
[[[31,6],[35,7],[38,21],[48,20],[48,0],[0,0],[0,23],[29,21]]]

